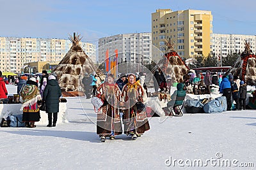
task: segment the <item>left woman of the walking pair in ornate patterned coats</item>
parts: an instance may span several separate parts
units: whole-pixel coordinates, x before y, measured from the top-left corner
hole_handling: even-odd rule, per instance
[[[122,124],[118,104],[122,101],[121,92],[114,83],[113,74],[108,74],[107,80],[97,88],[98,96],[104,101],[97,113],[97,134],[104,142],[106,136],[115,139],[115,135],[122,134]]]

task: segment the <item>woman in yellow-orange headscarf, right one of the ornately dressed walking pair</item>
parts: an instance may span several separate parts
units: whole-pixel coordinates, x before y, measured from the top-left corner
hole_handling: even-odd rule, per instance
[[[139,81],[136,81],[136,76],[134,74],[129,75],[128,83],[122,90],[122,96],[124,97],[125,107],[124,132],[135,140],[145,131],[148,131],[150,127],[145,109],[143,111],[139,111],[135,105],[137,101],[145,103],[147,100],[147,94],[145,94]]]

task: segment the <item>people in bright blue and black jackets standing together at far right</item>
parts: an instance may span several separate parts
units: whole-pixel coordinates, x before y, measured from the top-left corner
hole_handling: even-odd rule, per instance
[[[234,78],[232,74],[222,77],[220,93],[227,98],[227,110],[232,108],[232,100],[236,102],[236,110],[246,110],[247,87],[244,81]]]

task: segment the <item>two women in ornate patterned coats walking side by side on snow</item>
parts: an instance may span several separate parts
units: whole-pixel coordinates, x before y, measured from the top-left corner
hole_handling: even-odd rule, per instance
[[[122,134],[122,120],[124,133],[133,140],[150,129],[146,112],[141,108],[147,100],[147,92],[135,74],[127,77],[123,74],[116,83],[113,74],[107,74],[106,81],[97,88],[96,96],[103,101],[97,111],[100,141],[104,142],[106,137],[115,139],[116,135]],[[120,113],[123,113],[122,120]]]

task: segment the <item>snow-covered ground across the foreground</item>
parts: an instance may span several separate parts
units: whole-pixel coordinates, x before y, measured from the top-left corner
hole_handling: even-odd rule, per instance
[[[255,110],[153,117],[136,141],[122,134],[100,143],[90,100],[67,100],[69,123],[0,128],[1,169],[200,169],[200,160],[205,169],[256,167]],[[239,167],[250,162],[254,167]]]

